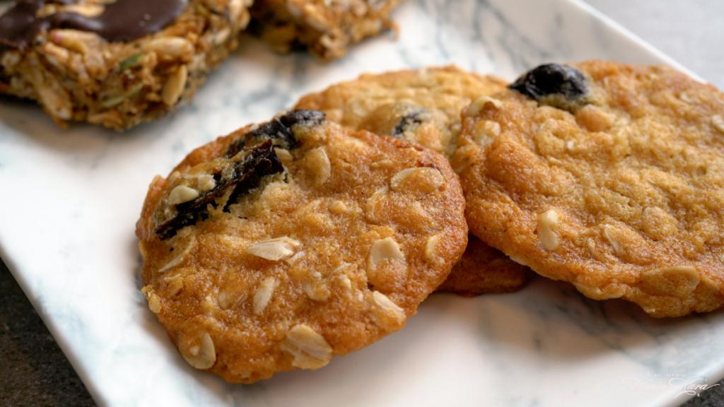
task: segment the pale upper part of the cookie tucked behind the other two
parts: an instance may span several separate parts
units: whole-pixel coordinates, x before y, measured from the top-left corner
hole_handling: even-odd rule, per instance
[[[303,96],[295,109],[316,109],[353,129],[414,141],[443,154],[455,151],[460,111],[505,81],[455,66],[364,74]]]

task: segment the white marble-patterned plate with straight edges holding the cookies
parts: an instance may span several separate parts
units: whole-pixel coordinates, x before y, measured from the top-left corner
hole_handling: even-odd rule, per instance
[[[317,372],[227,385],[180,358],[139,293],[146,186],[191,148],[361,72],[455,63],[513,78],[545,61],[675,62],[577,1],[408,1],[400,36],[320,64],[251,38],[193,105],[130,133],[60,130],[0,104],[0,249],[99,403],[113,406],[674,406],[724,376],[724,315],[654,320],[535,280],[432,295],[404,330]]]

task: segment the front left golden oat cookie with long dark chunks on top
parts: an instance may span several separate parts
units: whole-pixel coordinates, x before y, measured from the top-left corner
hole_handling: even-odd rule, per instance
[[[151,182],[143,294],[197,369],[318,369],[415,314],[463,253],[464,206],[444,156],[292,111]]]

